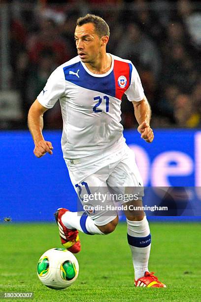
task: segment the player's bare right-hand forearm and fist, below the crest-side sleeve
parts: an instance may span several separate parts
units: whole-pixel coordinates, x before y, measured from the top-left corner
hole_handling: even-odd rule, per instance
[[[154,139],[153,130],[150,128],[150,119],[151,119],[151,108],[147,101],[147,98],[144,98],[139,102],[132,102],[134,105],[134,115],[139,124],[137,131],[141,134],[141,138],[147,143],[151,143]]]

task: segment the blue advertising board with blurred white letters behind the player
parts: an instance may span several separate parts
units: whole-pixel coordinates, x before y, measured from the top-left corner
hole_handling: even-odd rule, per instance
[[[11,217],[16,222],[51,222],[59,207],[76,211],[77,196],[63,159],[61,134],[44,131],[54,153],[36,158],[28,131],[0,132],[0,221]],[[192,187],[201,204],[201,131],[156,130],[152,144],[141,140],[136,130],[124,131],[124,136],[135,153],[144,186]]]

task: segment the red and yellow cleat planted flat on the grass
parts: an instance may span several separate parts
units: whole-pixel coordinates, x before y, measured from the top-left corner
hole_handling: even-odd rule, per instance
[[[154,276],[154,272],[145,271],[144,277],[141,277],[134,281],[136,287],[166,287],[161,281]]]

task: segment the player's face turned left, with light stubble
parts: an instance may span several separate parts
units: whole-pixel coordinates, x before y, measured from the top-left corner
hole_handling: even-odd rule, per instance
[[[100,54],[101,38],[95,32],[93,23],[75,28],[77,53],[83,63],[93,63]]]

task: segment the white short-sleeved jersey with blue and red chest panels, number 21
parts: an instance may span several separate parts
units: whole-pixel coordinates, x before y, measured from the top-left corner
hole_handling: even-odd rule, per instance
[[[63,116],[62,150],[65,159],[116,151],[125,145],[121,125],[121,98],[144,97],[140,78],[131,61],[114,55],[110,70],[91,73],[79,56],[59,66],[37,96],[45,108],[60,100]]]

